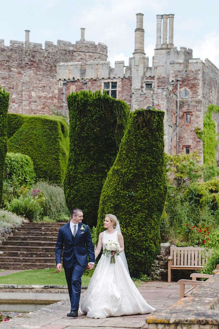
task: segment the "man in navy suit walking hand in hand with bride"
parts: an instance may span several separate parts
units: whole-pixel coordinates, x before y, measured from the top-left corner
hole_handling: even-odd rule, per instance
[[[63,267],[68,284],[68,294],[71,302],[71,311],[67,316],[77,317],[81,295],[81,277],[87,266],[87,251],[89,255],[88,268],[92,269],[95,262],[94,245],[89,227],[82,224],[83,213],[80,209],[71,211],[71,220],[59,229],[56,243],[56,267],[62,270],[61,257],[63,252]]]

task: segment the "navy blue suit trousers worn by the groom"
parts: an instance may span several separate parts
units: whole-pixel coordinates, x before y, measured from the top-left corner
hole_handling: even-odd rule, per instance
[[[77,311],[81,296],[81,277],[86,266],[78,263],[76,257],[71,267],[64,267],[66,281],[68,285],[68,294],[71,302],[71,311]]]

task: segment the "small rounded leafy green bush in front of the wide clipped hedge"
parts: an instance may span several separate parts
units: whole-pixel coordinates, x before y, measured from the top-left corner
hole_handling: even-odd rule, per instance
[[[34,164],[28,155],[7,153],[5,159],[5,180],[16,186],[31,186],[35,179]]]

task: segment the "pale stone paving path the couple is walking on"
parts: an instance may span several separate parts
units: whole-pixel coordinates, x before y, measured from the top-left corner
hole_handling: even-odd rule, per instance
[[[167,283],[152,281],[142,284],[139,291],[147,302],[156,310],[170,307],[179,296],[179,286],[176,282]],[[82,298],[85,291],[82,291]],[[60,301],[45,308],[15,317],[1,323],[1,329],[134,329],[148,328],[146,315],[108,317],[105,319],[90,319],[82,314],[78,318],[69,318],[69,300]]]

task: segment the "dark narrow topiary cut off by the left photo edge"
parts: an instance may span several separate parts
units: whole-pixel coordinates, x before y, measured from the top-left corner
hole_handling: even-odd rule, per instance
[[[9,92],[0,87],[0,205],[2,203],[2,188],[7,153],[7,112],[9,107]]]

